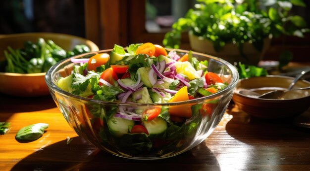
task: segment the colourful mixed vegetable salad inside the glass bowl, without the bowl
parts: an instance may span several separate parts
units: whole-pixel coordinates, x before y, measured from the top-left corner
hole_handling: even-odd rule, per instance
[[[175,150],[196,133],[202,117],[210,118],[217,105],[208,103],[160,105],[188,101],[220,91],[227,83],[207,71],[207,61],[189,53],[167,53],[152,43],[131,44],[91,58],[75,59],[72,74],[57,86],[75,95],[116,102],[86,103],[85,110],[101,143],[135,154]],[[116,105],[156,103],[152,108]],[[161,152],[159,152],[161,151]]]

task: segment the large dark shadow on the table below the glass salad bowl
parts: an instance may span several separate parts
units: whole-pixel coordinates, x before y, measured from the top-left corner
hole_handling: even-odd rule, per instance
[[[219,171],[214,154],[202,142],[193,149],[175,157],[160,160],[131,160],[117,157],[88,144],[81,137],[59,141],[18,162],[12,171],[19,170],[104,170],[104,171]]]

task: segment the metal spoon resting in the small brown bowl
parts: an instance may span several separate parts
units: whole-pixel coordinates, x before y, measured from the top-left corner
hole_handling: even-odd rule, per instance
[[[281,90],[274,90],[274,91],[270,91],[267,93],[264,93],[262,95],[260,95],[258,98],[260,99],[280,99],[284,93],[291,91],[292,88],[294,87],[294,85],[296,84],[296,82],[302,77],[304,76],[306,73],[310,72],[310,70],[304,70],[301,72],[301,74],[299,74],[294,80],[293,82],[290,84],[290,86],[287,88],[287,90],[285,91],[281,91]],[[304,87],[304,88],[300,88],[298,90],[305,90],[305,89],[309,89],[309,87]],[[294,89],[297,90],[297,89]]]

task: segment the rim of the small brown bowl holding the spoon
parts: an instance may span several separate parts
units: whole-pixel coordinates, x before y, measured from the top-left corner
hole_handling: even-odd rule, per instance
[[[258,77],[251,77],[251,78],[241,78],[239,79],[238,83],[239,82],[242,82],[244,80],[249,80],[249,79],[259,79],[259,78],[289,78],[289,79],[292,79],[292,81],[294,80],[295,77],[291,77],[291,76],[285,76],[285,75],[266,75],[266,76],[258,76]],[[306,82],[310,85],[310,81],[307,81],[307,80],[303,80],[303,79],[300,79],[300,81],[303,81],[303,82]],[[303,100],[303,99],[306,99],[306,98],[310,98],[310,95],[309,96],[306,96],[306,97],[302,97],[302,98],[297,98],[297,99],[259,99],[259,98],[253,98],[253,97],[250,97],[250,96],[246,96],[246,95],[243,95],[241,93],[239,93],[239,91],[241,89],[239,89],[239,91],[237,91],[239,88],[237,87],[236,85],[236,88],[234,90],[234,95],[236,96],[240,96],[242,98],[246,98],[246,99],[249,99],[249,100],[254,100],[254,101],[258,101],[258,102],[274,102],[274,103],[281,103],[281,102],[290,102],[290,101],[297,101],[297,100]]]

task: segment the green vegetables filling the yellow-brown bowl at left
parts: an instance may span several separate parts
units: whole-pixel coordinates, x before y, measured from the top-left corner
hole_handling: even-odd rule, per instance
[[[84,44],[75,45],[71,51],[65,51],[52,40],[38,38],[37,42],[25,41],[21,49],[10,46],[4,50],[5,60],[0,62],[2,72],[11,73],[40,73],[46,72],[58,61],[65,58],[90,52]]]

